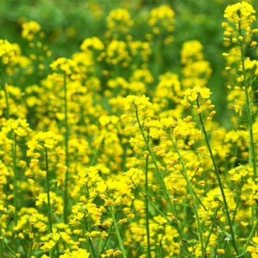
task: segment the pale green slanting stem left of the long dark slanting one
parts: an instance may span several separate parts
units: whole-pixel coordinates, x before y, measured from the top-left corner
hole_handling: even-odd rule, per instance
[[[199,242],[201,244],[202,257],[205,257],[204,240],[202,238],[202,223],[199,219],[199,214],[198,214],[198,209],[197,209],[197,201],[195,199],[195,194],[192,190],[192,185],[191,185],[190,179],[188,177],[188,171],[185,168],[185,163],[183,161],[183,156],[180,154],[180,151],[179,151],[179,149],[176,145],[176,142],[173,139],[171,139],[171,140],[172,140],[172,143],[173,143],[173,147],[176,149],[176,153],[178,154],[180,164],[183,168],[183,176],[185,177],[186,184],[188,185],[188,190],[190,192],[190,196],[191,196],[191,199],[192,199],[192,207],[195,210],[195,218],[196,218],[196,221],[197,221],[197,230],[199,231]]]

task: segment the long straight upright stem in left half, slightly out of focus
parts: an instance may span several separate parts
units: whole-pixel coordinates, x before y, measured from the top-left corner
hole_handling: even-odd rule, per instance
[[[68,128],[68,101],[67,101],[67,82],[66,73],[63,73],[63,90],[64,90],[64,115],[65,115],[65,152],[66,152],[66,176],[65,176],[65,189],[63,192],[63,222],[68,223],[68,182],[69,182],[69,154],[68,154],[68,140],[69,140],[69,128]]]

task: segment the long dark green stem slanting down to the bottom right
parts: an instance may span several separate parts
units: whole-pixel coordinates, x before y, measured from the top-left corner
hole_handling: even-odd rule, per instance
[[[199,106],[200,106],[199,99],[197,97],[197,107],[198,107],[198,109],[199,109]],[[221,190],[223,204],[224,204],[224,207],[226,209],[226,217],[227,217],[227,220],[228,220],[228,226],[229,226],[230,231],[231,231],[231,238],[232,238],[231,240],[233,242],[233,247],[235,249],[235,252],[238,255],[239,254],[239,252],[238,252],[238,245],[236,244],[236,241],[235,241],[235,233],[233,231],[233,226],[232,226],[232,223],[231,223],[231,216],[230,216],[230,212],[229,212],[229,209],[228,209],[228,202],[226,200],[226,195],[225,195],[225,192],[224,192],[224,189],[223,189],[223,185],[222,185],[222,182],[221,182],[221,178],[220,178],[220,175],[219,175],[219,168],[218,168],[218,166],[216,164],[216,160],[215,160],[214,155],[213,155],[212,150],[211,150],[211,145],[210,145],[210,142],[209,142],[209,137],[207,135],[207,131],[206,131],[205,126],[204,126],[204,121],[202,120],[202,113],[199,113],[198,115],[199,115],[199,121],[200,121],[201,126],[202,126],[202,132],[204,133],[204,138],[205,138],[205,140],[207,142],[207,147],[209,149],[209,154],[211,156],[211,161],[212,161],[212,164],[214,166],[214,171],[215,171],[215,174],[216,174],[216,178],[217,178],[218,183],[219,183],[219,188]]]

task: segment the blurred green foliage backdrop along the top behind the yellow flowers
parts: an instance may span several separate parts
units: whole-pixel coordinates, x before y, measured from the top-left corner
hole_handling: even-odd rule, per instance
[[[209,61],[212,75],[208,87],[211,88],[214,104],[221,112],[226,110],[226,101],[221,97],[226,94],[226,82],[223,78],[225,60],[221,56],[223,47],[223,29],[221,23],[223,12],[228,4],[238,1],[223,0],[0,0],[1,30],[0,38],[18,43],[24,55],[30,54],[27,42],[21,37],[21,25],[29,20],[35,20],[45,32],[44,44],[53,52],[49,63],[56,57],[70,57],[80,51],[80,44],[86,37],[97,36],[104,40],[106,32],[106,17],[116,8],[126,8],[135,21],[137,30],[132,30],[134,40],[144,40],[147,17],[152,8],[167,4],[175,11],[173,44],[161,47],[162,62],[159,63],[159,73],[171,71],[178,73],[180,64],[180,49],[183,42],[197,39],[204,46],[204,59]],[[258,10],[258,1],[247,1]],[[257,21],[255,22],[257,25]],[[258,26],[257,26],[258,27]],[[172,46],[172,47],[171,47]],[[46,73],[49,72],[46,70]],[[30,83],[39,80],[33,76]],[[153,85],[155,87],[155,85]]]

